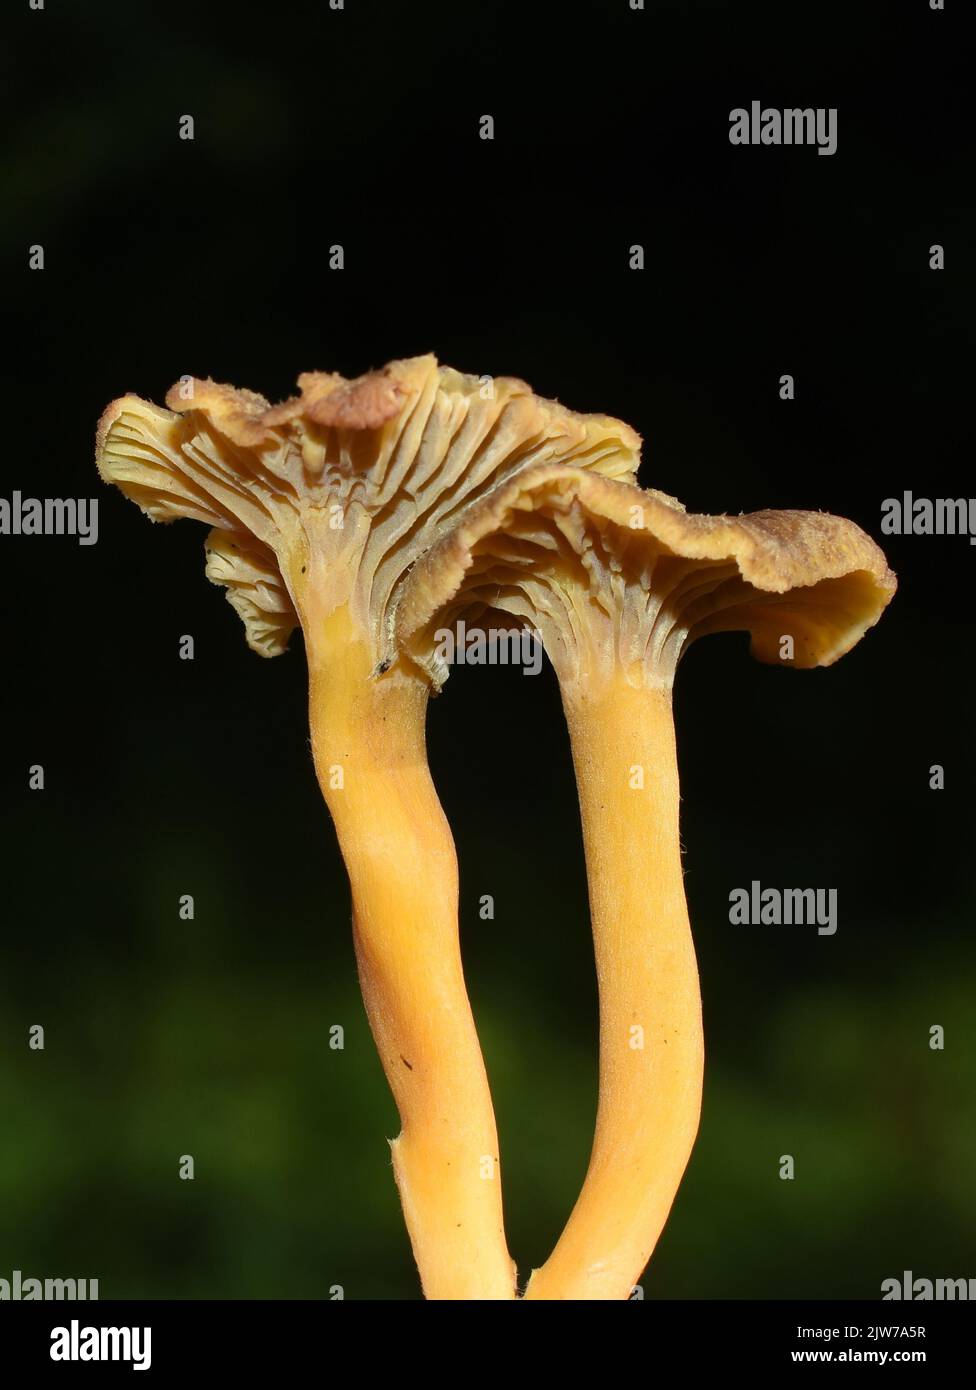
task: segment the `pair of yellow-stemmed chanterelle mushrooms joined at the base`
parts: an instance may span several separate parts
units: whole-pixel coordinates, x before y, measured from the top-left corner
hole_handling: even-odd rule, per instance
[[[523,1297],[627,1298],[701,1109],[678,659],[705,632],[748,630],[761,660],[780,660],[788,634],[791,664],[829,664],[891,599],[884,556],[823,513],[688,514],[635,485],[641,441],[619,420],[430,356],[355,381],[309,373],[278,406],[182,378],[167,407],[113,402],[99,473],[156,521],[210,525],[206,573],[256,652],[278,655],[302,628],[314,764],[400,1112],[393,1172],[428,1298],[519,1297],[455,847],[427,767],[427,701],[448,676],[435,632],[462,614],[541,632],[580,791],[599,1105],[583,1190]]]

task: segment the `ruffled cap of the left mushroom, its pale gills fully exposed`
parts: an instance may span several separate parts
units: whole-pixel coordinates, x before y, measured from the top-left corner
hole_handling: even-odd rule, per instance
[[[633,477],[640,459],[640,436],[619,420],[432,356],[353,381],[304,373],[277,406],[190,377],[165,399],[111,402],[99,473],[154,521],[213,528],[207,574],[263,655],[284,649],[314,591],[317,617],[350,603],[389,662],[393,592],[467,506],[541,463]]]

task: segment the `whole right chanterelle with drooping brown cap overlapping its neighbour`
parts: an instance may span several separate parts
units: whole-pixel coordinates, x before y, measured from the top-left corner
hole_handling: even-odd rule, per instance
[[[599,980],[599,1106],[573,1213],[527,1298],[626,1298],[651,1257],[701,1109],[702,1023],[678,844],[672,682],[705,632],[826,666],[895,580],[851,521],[690,516],[673,498],[539,466],[473,507],[413,570],[405,649],[441,682],[432,632],[501,610],[542,635],[580,791]],[[783,638],[792,639],[790,644]]]

